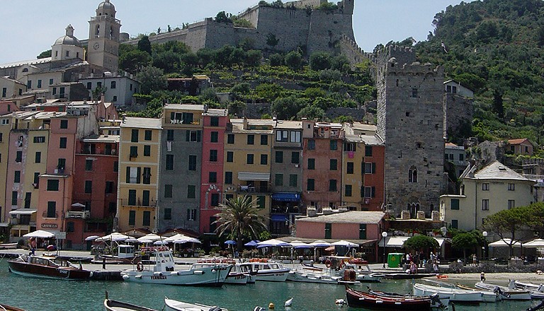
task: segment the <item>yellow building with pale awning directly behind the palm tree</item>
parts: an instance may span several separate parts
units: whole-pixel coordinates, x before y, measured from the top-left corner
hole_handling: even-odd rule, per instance
[[[225,199],[251,196],[261,215],[271,211],[271,146],[276,121],[231,119],[225,137]]]

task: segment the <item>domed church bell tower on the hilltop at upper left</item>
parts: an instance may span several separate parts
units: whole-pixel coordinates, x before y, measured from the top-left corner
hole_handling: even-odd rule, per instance
[[[89,63],[117,72],[120,28],[121,22],[115,18],[115,6],[110,0],[103,1],[96,9],[96,16],[89,20]]]

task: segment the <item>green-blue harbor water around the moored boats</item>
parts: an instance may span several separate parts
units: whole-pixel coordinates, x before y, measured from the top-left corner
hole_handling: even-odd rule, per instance
[[[505,280],[507,281],[507,280]],[[382,283],[362,283],[353,288],[395,293],[409,293],[411,281],[384,280]],[[467,283],[465,285],[473,285]],[[186,286],[159,286],[123,281],[64,281],[17,276],[8,272],[6,259],[0,262],[0,303],[21,307],[28,311],[95,311],[103,310],[104,292],[110,298],[161,310],[164,296],[189,303],[219,305],[229,310],[254,310],[274,303],[277,310],[361,310],[338,307],[336,299],[346,299],[344,286],[313,283],[256,282],[246,286],[198,288]],[[294,297],[290,308],[285,300]],[[526,310],[538,301],[502,301],[480,305],[455,305],[455,310]]]

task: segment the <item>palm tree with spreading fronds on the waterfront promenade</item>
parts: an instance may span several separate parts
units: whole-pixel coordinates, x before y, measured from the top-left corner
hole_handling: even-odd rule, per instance
[[[256,239],[259,233],[266,231],[265,218],[257,213],[259,210],[255,205],[256,200],[251,201],[249,196],[237,196],[217,208],[220,212],[215,214],[217,220],[214,223],[219,225],[215,231],[236,240],[238,250],[242,250],[244,236]]]

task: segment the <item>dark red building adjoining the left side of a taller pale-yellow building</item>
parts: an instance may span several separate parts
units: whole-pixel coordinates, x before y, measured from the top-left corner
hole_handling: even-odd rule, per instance
[[[66,215],[67,247],[89,248],[89,235],[111,231],[117,204],[119,136],[77,141],[72,204]],[[86,247],[85,247],[86,246]]]

